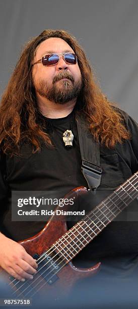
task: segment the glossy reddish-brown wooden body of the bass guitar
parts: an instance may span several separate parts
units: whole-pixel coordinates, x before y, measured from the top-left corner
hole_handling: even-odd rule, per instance
[[[69,199],[70,196],[74,195],[77,199],[78,194],[86,194],[86,192],[86,188],[80,187],[66,194],[65,197]],[[59,206],[56,209],[61,210]],[[63,207],[63,210],[67,211],[68,206]],[[58,218],[58,220],[56,221],[55,217],[51,216],[43,230],[41,230],[37,235],[19,242],[31,256],[34,256],[34,258],[38,260],[38,272],[39,268],[42,268],[39,261],[43,260],[43,258],[40,259],[38,258],[38,256],[41,256],[45,251],[48,252],[48,249],[53,245],[53,243],[59,240],[60,237],[66,233],[67,225],[65,220],[66,216],[61,216],[61,221],[60,218]],[[64,249],[60,247],[60,251],[62,250]],[[37,254],[38,256],[36,256],[35,254]],[[56,255],[56,253],[54,255]],[[49,262],[46,260],[45,264],[47,263]],[[54,295],[54,298],[56,299],[59,298],[59,296],[68,293],[77,280],[95,274],[98,271],[99,266],[100,263],[91,268],[82,269],[75,267],[72,262],[67,263],[67,261],[65,261],[64,267],[62,267],[58,272],[57,270],[55,270],[56,280],[52,284],[49,284],[49,281],[47,282],[47,278],[43,278],[43,275],[38,275],[37,272],[37,274],[34,275],[33,280],[26,280],[26,282],[28,283],[28,288],[26,288],[26,284],[24,282],[20,282],[13,277],[9,277],[6,272],[3,272],[3,276],[6,281],[9,281],[10,286],[14,290],[15,297],[24,296],[26,298],[32,297],[36,293],[42,293],[43,295],[48,294],[48,297],[50,296],[50,294],[51,297],[53,297]],[[45,267],[43,267],[42,269],[45,274]],[[22,292],[23,290],[25,291]]]

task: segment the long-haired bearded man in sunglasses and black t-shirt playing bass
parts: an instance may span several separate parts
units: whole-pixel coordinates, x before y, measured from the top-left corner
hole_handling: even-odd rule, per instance
[[[88,186],[81,172],[77,115],[83,115],[100,145],[103,173],[98,190],[113,190],[137,170],[137,125],[102,93],[75,37],[64,30],[44,30],[25,46],[0,108],[0,265],[19,280],[33,278],[37,264],[17,241],[37,234],[44,223],[12,222],[11,192],[62,188],[67,193]],[[62,140],[67,129],[74,134],[71,148]],[[138,236],[135,225],[131,235],[134,232]],[[89,255],[91,251],[94,259],[102,258],[107,238],[111,246],[103,248],[103,256],[116,254],[120,246],[121,252],[130,253],[130,245],[135,252],[137,243],[129,237],[126,244],[120,233],[111,225],[93,242],[93,251],[89,245]],[[87,256],[87,248],[84,252]]]

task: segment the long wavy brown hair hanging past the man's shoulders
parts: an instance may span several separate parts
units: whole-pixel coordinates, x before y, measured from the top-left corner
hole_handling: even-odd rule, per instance
[[[32,64],[39,44],[50,38],[65,40],[78,57],[83,88],[78,97],[78,111],[87,117],[94,139],[112,148],[117,142],[129,138],[122,117],[107,100],[95,81],[91,66],[76,38],[64,30],[46,29],[25,46],[0,107],[0,144],[5,153],[19,154],[20,144],[26,139],[32,151],[40,151],[41,140],[51,145],[51,140],[37,122],[38,107],[32,79]]]

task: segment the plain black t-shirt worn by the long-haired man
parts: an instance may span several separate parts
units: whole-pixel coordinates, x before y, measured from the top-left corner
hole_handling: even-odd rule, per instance
[[[12,190],[58,190],[67,193],[78,186],[87,186],[87,182],[81,172],[81,153],[78,141],[77,125],[74,111],[61,119],[46,119],[39,115],[40,122],[45,122],[45,132],[49,134],[54,148],[42,143],[41,152],[32,154],[31,145],[22,145],[22,157],[8,157],[2,159],[1,166],[1,231],[8,237],[19,241],[38,233],[45,225],[44,222],[12,222],[11,197]],[[71,129],[73,122],[74,141],[73,147],[65,148],[62,134]],[[102,198],[102,191],[112,191],[123,183],[132,173],[138,169],[138,129],[135,122],[126,117],[126,126],[132,134],[132,139],[123,144],[117,144],[114,149],[100,148],[100,165],[103,169],[101,185],[93,197],[96,204]],[[9,197],[9,203],[8,203]],[[127,209],[136,212],[137,203]],[[127,216],[128,218],[128,216]],[[122,262],[124,271],[127,264],[128,270],[137,265],[138,254],[138,222],[128,220],[112,222],[100,233],[79,255],[77,259],[99,261]],[[73,223],[68,222],[70,228]],[[127,263],[125,261],[127,257]],[[119,260],[118,260],[119,259]],[[124,260],[123,260],[124,259]],[[112,264],[111,264],[112,265]],[[128,266],[129,265],[129,266]],[[134,267],[135,268],[135,267]],[[122,273],[123,273],[122,271]]]

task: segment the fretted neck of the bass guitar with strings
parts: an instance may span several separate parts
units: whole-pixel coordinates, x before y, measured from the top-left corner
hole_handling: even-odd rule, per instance
[[[138,172],[53,244],[54,249],[66,263],[70,262],[138,196],[137,179]]]

